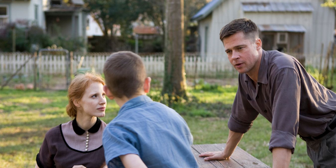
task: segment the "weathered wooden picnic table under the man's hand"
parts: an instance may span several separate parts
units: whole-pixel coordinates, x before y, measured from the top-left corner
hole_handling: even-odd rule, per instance
[[[212,151],[223,151],[225,147],[225,143],[215,143],[215,144],[193,144],[192,150],[194,156],[197,160],[199,167],[204,168],[214,168],[214,167],[230,167],[230,168],[261,168],[267,167],[266,164],[262,163],[257,158],[253,157],[246,151],[242,150],[237,146],[235,152],[231,155],[228,160],[221,161],[204,161],[203,157],[199,157],[198,155],[203,152],[212,152]]]

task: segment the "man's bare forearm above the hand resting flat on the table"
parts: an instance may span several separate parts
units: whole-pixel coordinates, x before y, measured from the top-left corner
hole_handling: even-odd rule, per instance
[[[227,138],[226,146],[223,151],[223,157],[225,159],[228,159],[232,155],[238,143],[242,139],[243,135],[244,135],[243,133],[234,132],[234,131],[229,130],[229,135]]]

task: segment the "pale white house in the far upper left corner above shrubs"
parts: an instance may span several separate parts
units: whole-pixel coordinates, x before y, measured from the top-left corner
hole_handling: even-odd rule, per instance
[[[28,20],[45,28],[42,0],[1,0],[0,27],[10,22]]]

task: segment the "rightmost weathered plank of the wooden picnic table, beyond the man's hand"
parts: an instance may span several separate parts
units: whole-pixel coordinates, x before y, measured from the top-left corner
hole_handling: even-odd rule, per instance
[[[216,144],[215,146],[220,150],[223,151],[225,147],[225,143]],[[259,159],[255,158],[251,154],[247,153],[243,149],[237,146],[236,150],[230,157],[231,159],[235,160],[237,163],[242,165],[243,167],[248,168],[270,168],[265,163],[261,162]]]

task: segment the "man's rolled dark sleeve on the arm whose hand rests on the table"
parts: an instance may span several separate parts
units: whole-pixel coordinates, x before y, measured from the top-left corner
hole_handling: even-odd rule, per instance
[[[231,131],[246,133],[252,127],[253,121],[259,113],[251,106],[248,100],[249,96],[244,91],[241,80],[241,75],[239,75],[238,90],[227,126]]]

